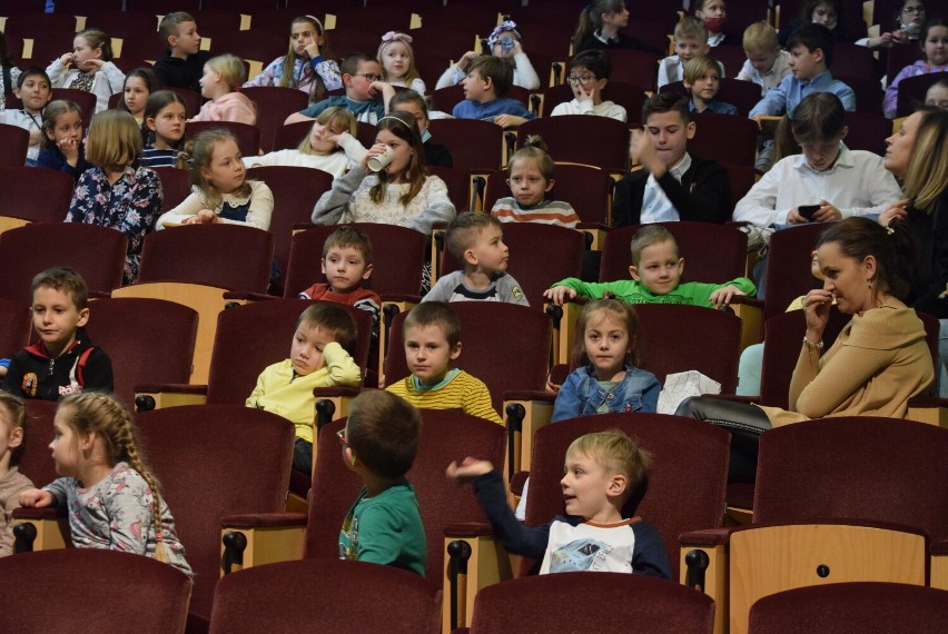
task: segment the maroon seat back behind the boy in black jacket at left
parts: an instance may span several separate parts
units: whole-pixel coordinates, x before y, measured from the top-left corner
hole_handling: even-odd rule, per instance
[[[128,240],[109,227],[33,222],[0,234],[0,297],[32,304],[30,281],[55,266],[75,268],[90,291],[121,285]]]

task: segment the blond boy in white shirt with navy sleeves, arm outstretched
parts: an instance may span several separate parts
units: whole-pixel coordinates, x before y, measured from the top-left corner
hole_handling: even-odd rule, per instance
[[[671,578],[659,532],[623,506],[649,472],[651,456],[622,432],[580,436],[566,449],[565,514],[540,526],[517,522],[501,474],[487,460],[451,463],[447,477],[471,481],[496,536],[507,552],[543,559],[540,574],[635,573]]]

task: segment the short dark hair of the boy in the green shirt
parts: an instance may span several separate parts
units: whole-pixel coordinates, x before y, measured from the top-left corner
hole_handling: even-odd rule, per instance
[[[421,435],[421,413],[391,392],[363,392],[349,405],[346,444],[377,476],[404,476],[415,462]]]

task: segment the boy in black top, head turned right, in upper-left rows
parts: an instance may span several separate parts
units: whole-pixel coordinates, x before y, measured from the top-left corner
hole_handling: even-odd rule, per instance
[[[187,88],[200,92],[204,65],[210,51],[200,50],[200,34],[190,13],[175,11],[161,18],[158,26],[161,43],[168,48],[151,70],[165,88]]]

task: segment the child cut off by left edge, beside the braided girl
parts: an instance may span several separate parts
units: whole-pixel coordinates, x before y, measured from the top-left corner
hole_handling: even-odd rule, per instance
[[[13,509],[20,506],[20,494],[34,488],[17,466],[23,456],[26,427],[23,402],[0,392],[0,557],[13,554]]]

